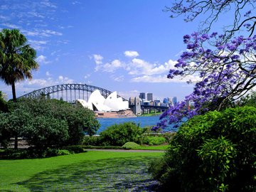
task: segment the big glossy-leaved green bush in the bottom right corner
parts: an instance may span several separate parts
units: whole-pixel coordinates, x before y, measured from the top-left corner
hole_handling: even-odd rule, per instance
[[[256,191],[256,108],[208,112],[183,124],[149,169],[174,191]]]

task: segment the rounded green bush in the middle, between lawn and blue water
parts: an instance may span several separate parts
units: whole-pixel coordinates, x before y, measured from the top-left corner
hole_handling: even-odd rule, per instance
[[[124,122],[107,127],[100,133],[102,145],[122,146],[126,142],[136,142],[140,144],[141,129],[134,122]]]

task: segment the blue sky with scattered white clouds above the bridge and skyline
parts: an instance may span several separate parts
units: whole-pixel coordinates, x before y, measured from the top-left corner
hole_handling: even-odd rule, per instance
[[[17,96],[50,85],[86,83],[126,97],[152,92],[154,99],[188,95],[186,80],[168,71],[186,50],[183,35],[197,19],[169,18],[171,1],[1,0],[0,29],[18,28],[37,51],[38,71],[18,82]],[[11,98],[11,86],[0,81]]]

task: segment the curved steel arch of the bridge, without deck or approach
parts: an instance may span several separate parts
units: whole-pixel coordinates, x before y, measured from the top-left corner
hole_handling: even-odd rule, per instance
[[[29,92],[25,95],[22,95],[21,97],[18,98],[38,98],[46,95],[50,95],[54,92],[61,92],[63,90],[82,90],[82,91],[86,91],[86,92],[94,92],[95,90],[100,90],[100,94],[107,98],[107,96],[109,96],[112,92],[110,90],[105,90],[101,87],[96,87],[93,85],[87,85],[87,84],[63,84],[63,85],[53,85],[50,87],[44,87],[41,88],[39,90],[34,90],[32,92]],[[119,95],[117,95],[117,97],[121,97]],[[127,101],[127,99],[125,99],[124,97],[122,97],[122,100]]]

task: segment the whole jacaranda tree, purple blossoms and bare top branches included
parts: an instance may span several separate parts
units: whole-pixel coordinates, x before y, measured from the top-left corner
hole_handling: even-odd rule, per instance
[[[251,1],[175,1],[174,6],[166,8],[173,17],[186,14],[186,21],[193,21],[199,14],[206,14],[205,28],[191,35],[183,36],[186,51],[177,60],[167,78],[196,75],[201,78],[195,82],[191,95],[183,102],[161,115],[161,122],[154,129],[167,124],[181,122],[183,117],[191,118],[210,110],[223,110],[235,100],[247,94],[256,85],[256,16]],[[232,27],[225,28],[223,34],[210,33],[213,22],[227,10],[233,10]],[[245,10],[247,9],[247,10]],[[230,25],[231,25],[230,24]],[[237,32],[246,31],[242,35]],[[206,33],[203,33],[206,32]],[[192,80],[188,83],[193,82]],[[186,103],[193,102],[193,110],[187,110]]]

